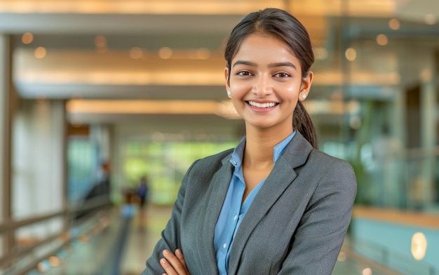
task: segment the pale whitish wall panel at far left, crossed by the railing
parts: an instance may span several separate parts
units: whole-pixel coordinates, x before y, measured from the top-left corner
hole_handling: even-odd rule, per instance
[[[65,201],[65,116],[61,101],[22,100],[13,120],[12,213],[16,220],[62,210]],[[59,232],[62,220],[22,227],[41,238]]]

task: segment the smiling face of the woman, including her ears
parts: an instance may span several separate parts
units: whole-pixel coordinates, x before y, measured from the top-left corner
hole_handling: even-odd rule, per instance
[[[229,69],[229,97],[247,126],[292,130],[297,100],[308,95],[313,74],[302,77],[300,62],[285,43],[252,34],[242,41]]]

